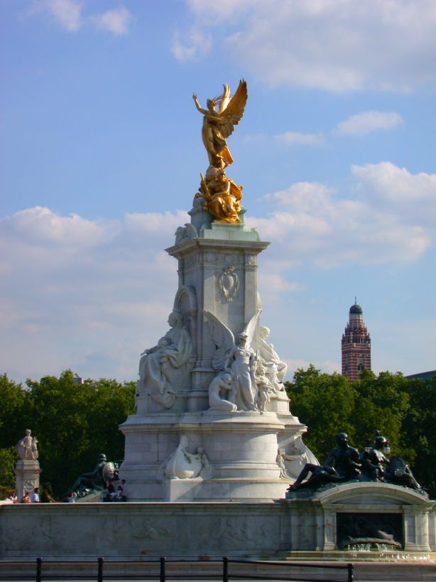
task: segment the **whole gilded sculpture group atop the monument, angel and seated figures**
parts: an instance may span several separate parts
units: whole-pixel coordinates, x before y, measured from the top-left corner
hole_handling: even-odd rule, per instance
[[[195,198],[203,200],[203,208],[214,217],[214,222],[241,222],[239,212],[243,187],[228,178],[224,168],[233,162],[226,138],[239,124],[247,97],[244,80],[239,81],[233,97],[226,83],[221,96],[207,99],[207,109],[202,109],[197,95],[192,95],[198,111],[204,116],[202,139],[209,158],[209,167],[205,176],[201,174],[200,188]]]

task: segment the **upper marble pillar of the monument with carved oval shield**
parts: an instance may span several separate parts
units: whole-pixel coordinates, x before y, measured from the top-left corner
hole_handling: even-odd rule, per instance
[[[179,291],[192,289],[197,303],[192,340],[196,362],[187,402],[188,411],[207,409],[207,388],[216,372],[212,368],[215,346],[207,329],[204,310],[211,311],[236,336],[258,311],[257,255],[268,247],[256,229],[244,224],[203,225],[200,235],[182,239],[166,249],[178,259]],[[191,317],[192,320],[192,317]],[[258,325],[251,347],[256,350]]]

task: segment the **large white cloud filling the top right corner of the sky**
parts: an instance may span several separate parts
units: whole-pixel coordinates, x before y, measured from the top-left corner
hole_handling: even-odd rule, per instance
[[[269,85],[436,87],[433,0],[189,0],[197,26]],[[227,41],[227,42],[226,42]]]

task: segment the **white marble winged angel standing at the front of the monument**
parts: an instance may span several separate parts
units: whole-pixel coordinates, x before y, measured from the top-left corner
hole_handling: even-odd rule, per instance
[[[234,335],[213,313],[205,310],[205,316],[209,323],[212,340],[217,347],[212,359],[212,367],[217,372],[223,370],[231,373],[230,402],[236,404],[241,411],[257,410],[257,387],[254,378],[256,354],[250,347],[251,340],[256,330],[256,323],[260,310],[251,318],[243,332]]]

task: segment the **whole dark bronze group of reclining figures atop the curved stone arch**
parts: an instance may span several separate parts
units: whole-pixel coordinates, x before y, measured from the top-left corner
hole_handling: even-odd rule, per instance
[[[346,433],[339,433],[336,438],[337,447],[330,451],[325,465],[307,463],[295,483],[290,485],[291,491],[302,488],[317,489],[326,483],[344,483],[356,478],[361,479],[362,476],[369,480],[386,481],[422,490],[402,458],[386,457],[390,452],[386,437],[378,434],[374,444],[361,454],[356,448],[349,446]]]

